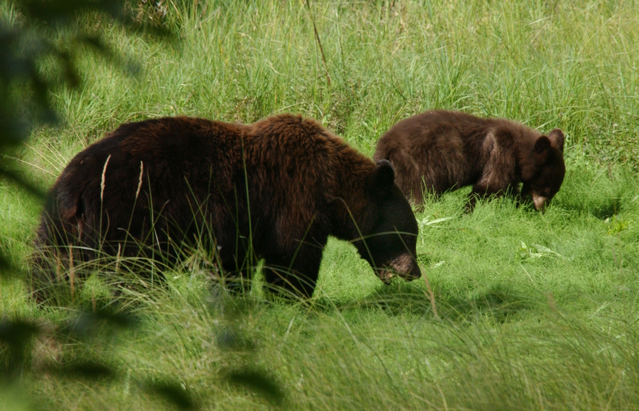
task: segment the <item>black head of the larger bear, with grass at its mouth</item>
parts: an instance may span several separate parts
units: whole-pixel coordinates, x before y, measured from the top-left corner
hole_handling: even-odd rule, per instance
[[[395,184],[395,171],[388,160],[379,160],[367,182],[369,216],[354,245],[361,258],[374,269],[384,284],[394,275],[407,281],[422,276],[415,260],[418,225],[415,214]]]

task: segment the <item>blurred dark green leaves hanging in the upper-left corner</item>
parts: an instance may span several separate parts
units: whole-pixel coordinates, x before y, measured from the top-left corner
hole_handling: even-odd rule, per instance
[[[125,25],[133,22],[125,18],[121,0],[15,0],[5,7],[10,20],[0,20],[0,179],[43,198],[40,188],[8,165],[5,154],[23,145],[34,127],[58,123],[51,91],[82,85],[78,53],[90,49],[123,64],[99,32],[89,32],[79,20],[93,13]],[[11,269],[0,251],[1,272]]]

